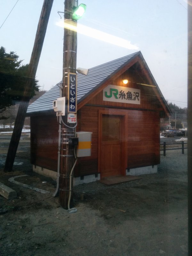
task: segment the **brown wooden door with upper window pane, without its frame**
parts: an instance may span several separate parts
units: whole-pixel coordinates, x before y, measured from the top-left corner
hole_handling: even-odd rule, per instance
[[[101,115],[101,178],[122,174],[122,118],[118,115]]]

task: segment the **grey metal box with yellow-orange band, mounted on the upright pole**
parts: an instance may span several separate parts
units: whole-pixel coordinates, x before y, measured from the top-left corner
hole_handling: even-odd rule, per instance
[[[92,132],[76,132],[76,137],[79,138],[76,156],[91,156],[91,136]]]

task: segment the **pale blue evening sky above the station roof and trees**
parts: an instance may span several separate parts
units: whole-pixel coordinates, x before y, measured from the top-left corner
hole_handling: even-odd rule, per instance
[[[0,46],[16,52],[23,64],[30,61],[43,2],[0,0]],[[77,25],[77,67],[92,68],[141,51],[164,98],[187,107],[186,0],[81,3],[87,9]],[[62,80],[63,16],[58,12],[64,12],[64,0],[53,1],[36,73],[40,90]]]

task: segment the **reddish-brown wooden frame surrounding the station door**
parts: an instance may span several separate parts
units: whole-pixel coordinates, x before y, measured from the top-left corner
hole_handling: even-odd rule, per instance
[[[122,170],[121,175],[126,175],[126,168],[127,168],[127,124],[128,124],[128,117],[127,117],[127,110],[124,109],[99,109],[99,124],[98,124],[98,172],[100,173],[100,179],[102,179],[102,172],[101,172],[101,125],[102,125],[102,115],[113,115],[113,116],[121,116],[122,117],[122,125],[121,125],[121,144],[122,144]],[[124,138],[124,139],[123,139]]]

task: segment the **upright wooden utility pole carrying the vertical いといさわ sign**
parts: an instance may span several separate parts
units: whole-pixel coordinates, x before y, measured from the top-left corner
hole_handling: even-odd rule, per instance
[[[70,189],[70,172],[75,162],[74,148],[69,144],[69,138],[75,137],[76,123],[68,123],[68,102],[69,73],[76,76],[76,52],[77,52],[77,22],[72,20],[74,0],[65,0],[64,8],[64,42],[63,42],[63,83],[62,97],[65,97],[65,116],[62,116],[61,123],[61,144],[60,144],[60,176],[59,176],[59,201],[60,205],[68,209],[69,194],[73,192],[73,180]],[[69,29],[73,26],[74,29]],[[70,191],[71,190],[71,191]]]

